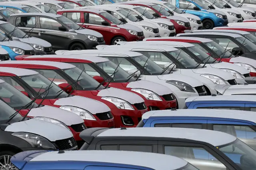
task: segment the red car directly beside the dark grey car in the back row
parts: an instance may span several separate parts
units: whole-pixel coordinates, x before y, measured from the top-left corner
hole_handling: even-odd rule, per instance
[[[143,31],[133,25],[124,24],[118,18],[104,10],[98,9],[66,9],[58,10],[63,15],[83,28],[99,32],[107,45],[116,45],[119,41],[142,41]]]

